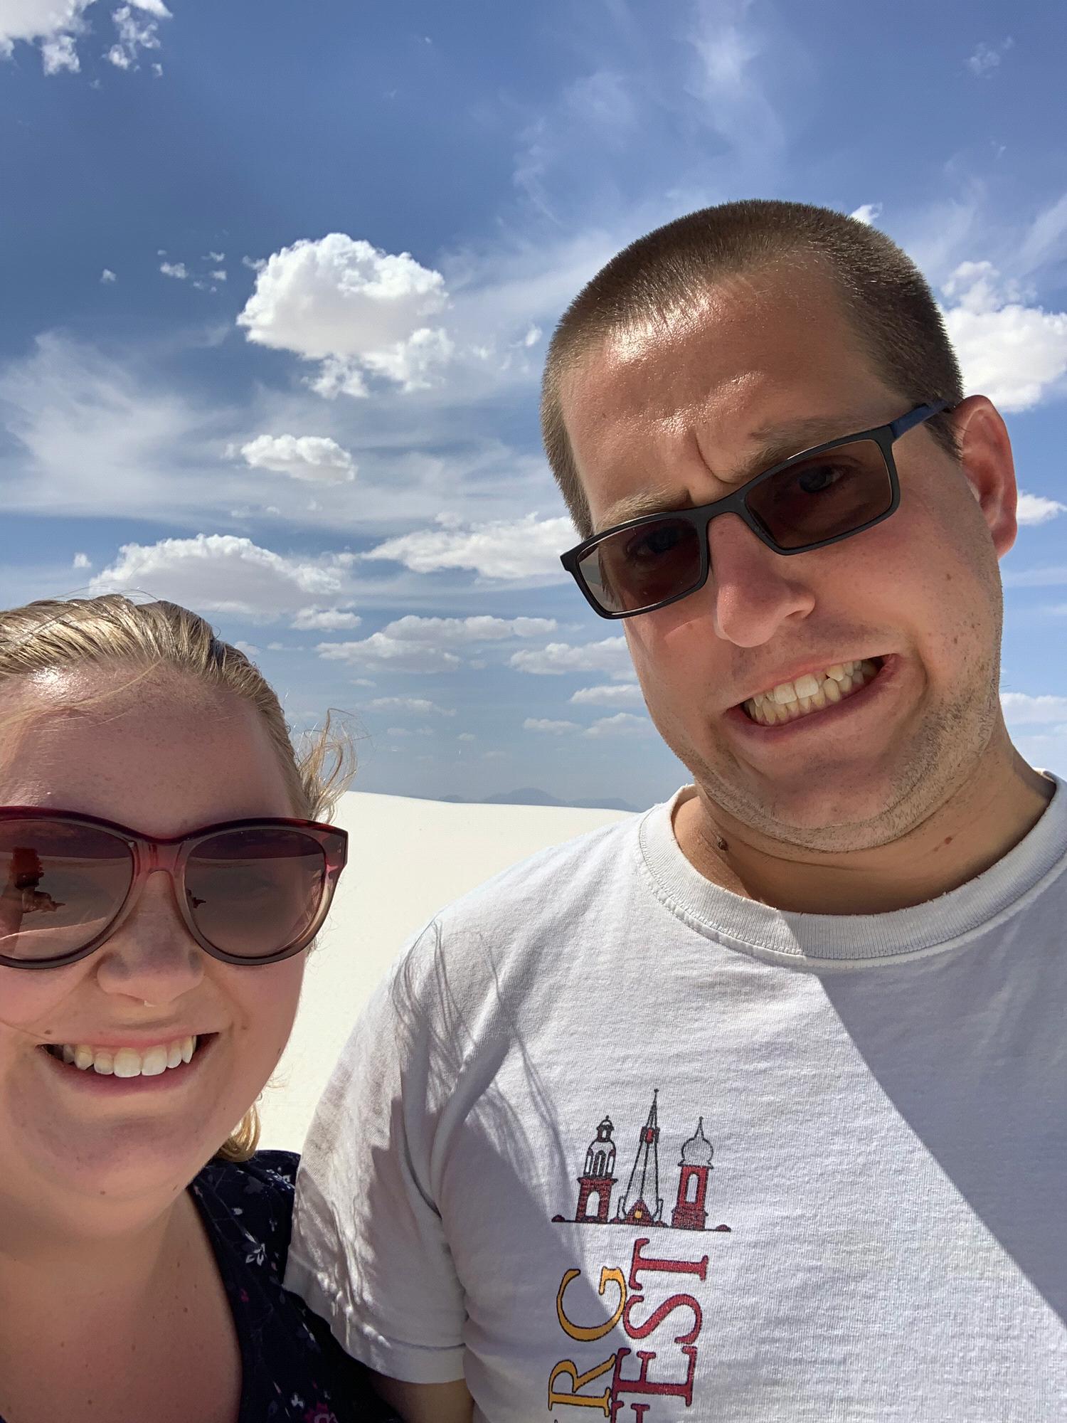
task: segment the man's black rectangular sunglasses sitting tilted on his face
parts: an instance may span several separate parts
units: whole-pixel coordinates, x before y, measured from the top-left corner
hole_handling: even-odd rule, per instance
[[[635,618],[687,598],[707,582],[707,527],[737,514],[775,554],[807,554],[874,528],[898,508],[893,443],[946,400],[899,420],[791,455],[713,504],[646,514],[593,534],[561,564],[600,618]]]

